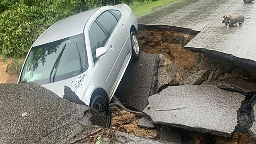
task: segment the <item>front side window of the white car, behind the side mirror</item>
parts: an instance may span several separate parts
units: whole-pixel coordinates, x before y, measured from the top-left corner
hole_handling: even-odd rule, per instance
[[[99,47],[103,47],[106,44],[108,37],[105,35],[103,30],[100,28],[100,26],[96,22],[92,23],[92,26],[89,32],[89,37],[90,37],[93,62],[95,63],[97,60],[96,49]]]

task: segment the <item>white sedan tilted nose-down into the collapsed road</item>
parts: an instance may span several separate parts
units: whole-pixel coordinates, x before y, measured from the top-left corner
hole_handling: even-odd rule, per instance
[[[140,54],[137,20],[126,4],[103,6],[60,20],[30,48],[19,82],[64,95],[71,88],[110,125],[109,101],[131,58]]]

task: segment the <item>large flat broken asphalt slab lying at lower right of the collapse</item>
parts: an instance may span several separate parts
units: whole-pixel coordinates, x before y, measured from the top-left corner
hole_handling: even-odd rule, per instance
[[[149,97],[154,124],[230,137],[244,95],[214,85],[170,86]]]

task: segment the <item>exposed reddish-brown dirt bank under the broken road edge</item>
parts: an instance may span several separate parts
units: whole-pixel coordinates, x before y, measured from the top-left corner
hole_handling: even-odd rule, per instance
[[[138,39],[143,52],[158,53],[158,91],[166,86],[213,83],[241,78],[250,81],[250,75],[229,60],[208,53],[185,49],[196,32],[177,30],[168,26],[144,26]]]

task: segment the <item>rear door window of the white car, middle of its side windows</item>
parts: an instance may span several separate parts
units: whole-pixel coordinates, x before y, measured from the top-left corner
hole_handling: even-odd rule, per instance
[[[103,12],[100,14],[100,16],[97,18],[98,22],[104,27],[104,29],[107,31],[109,35],[111,35],[112,31],[114,30],[117,20],[114,17],[114,15],[108,11]]]

